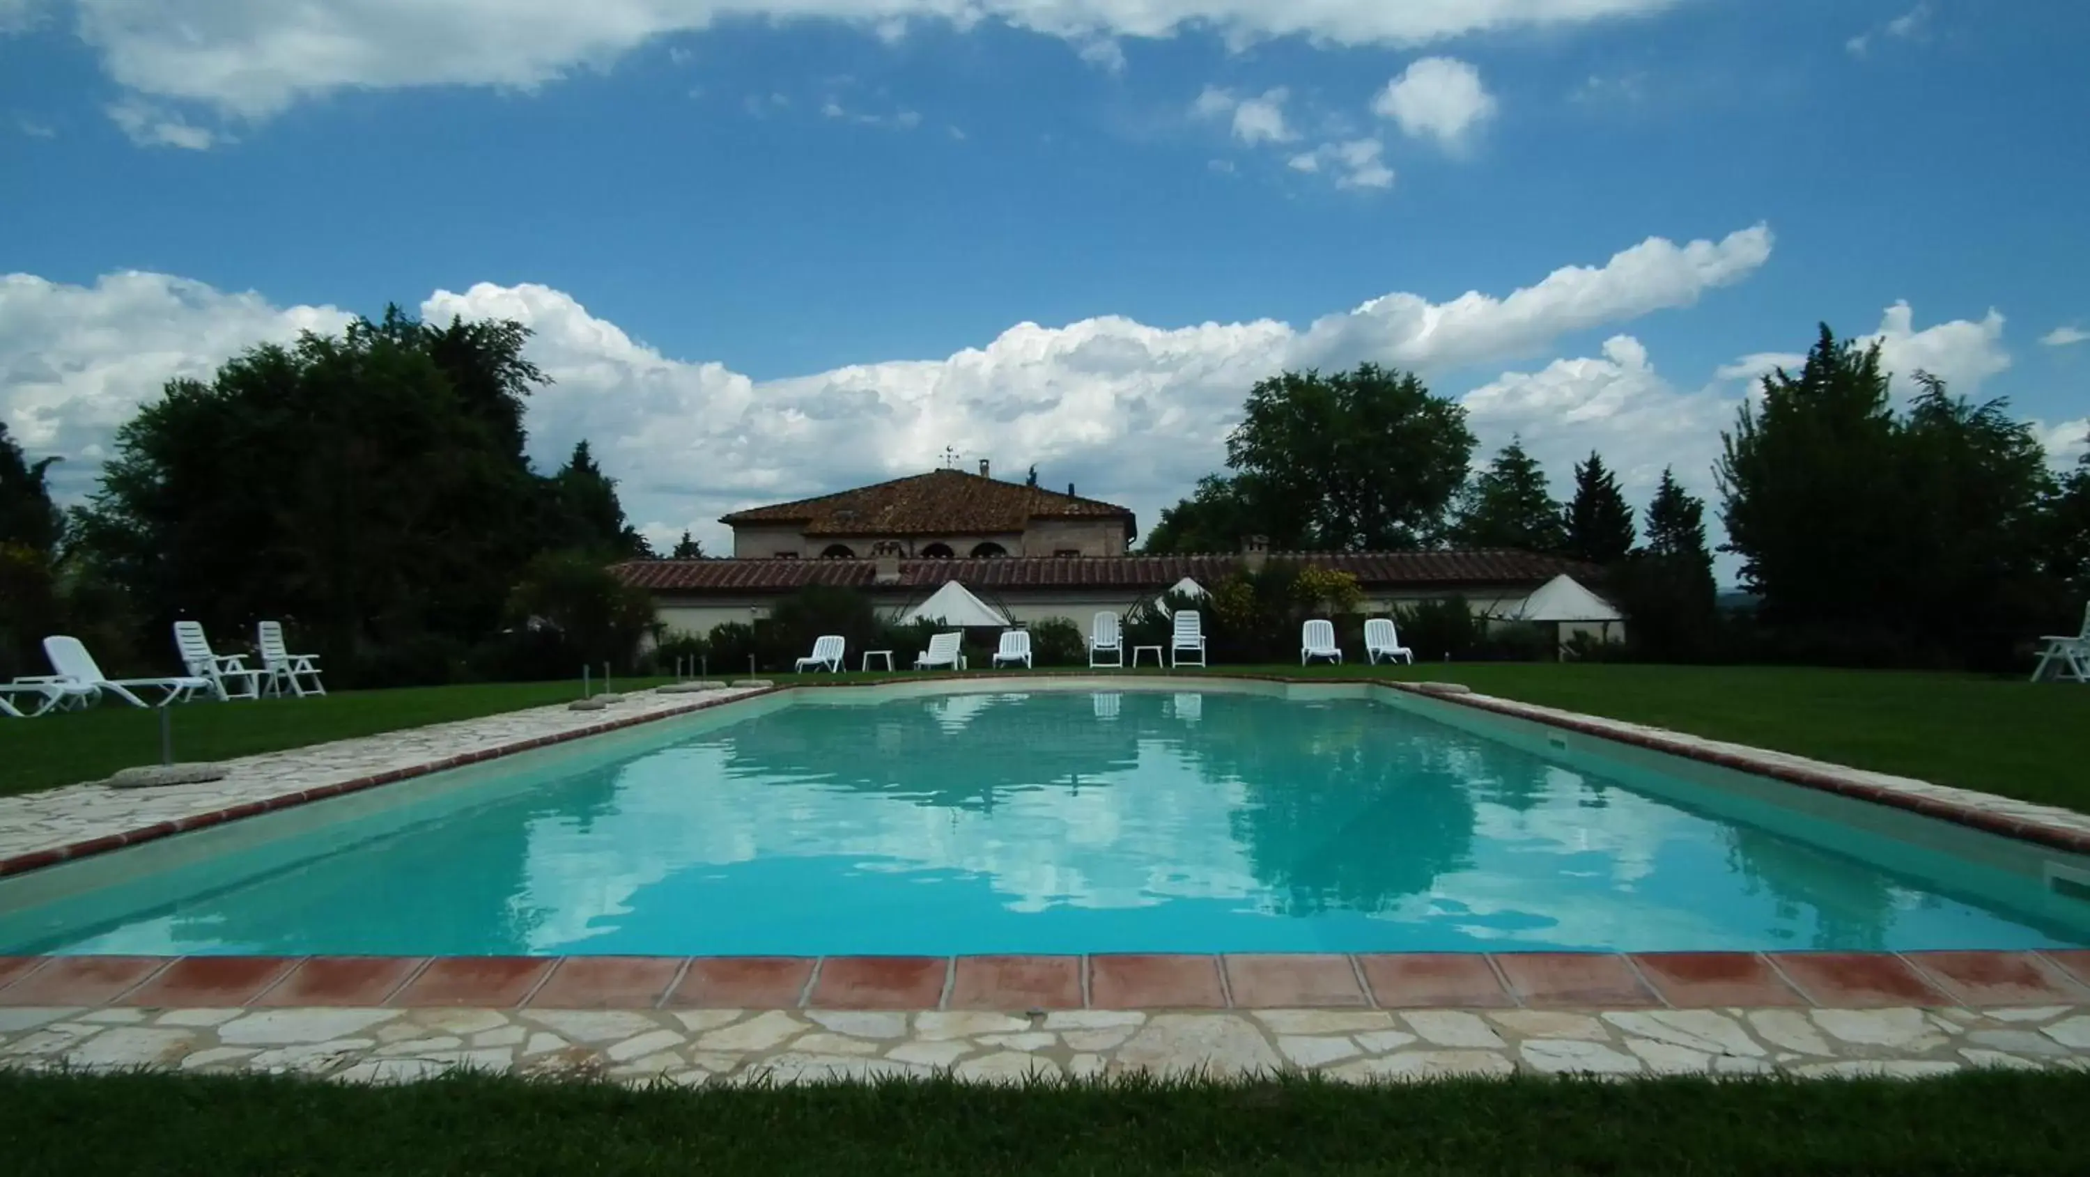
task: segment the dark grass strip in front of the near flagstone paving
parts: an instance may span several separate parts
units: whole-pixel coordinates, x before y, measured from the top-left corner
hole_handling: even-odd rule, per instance
[[[13,1177],[2082,1173],[2090,1075],[646,1089],[0,1075]]]

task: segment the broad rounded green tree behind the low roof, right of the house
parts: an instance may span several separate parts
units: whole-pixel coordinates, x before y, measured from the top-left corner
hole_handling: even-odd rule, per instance
[[[1465,410],[1411,372],[1283,372],[1250,389],[1231,475],[1164,512],[1147,550],[1233,550],[1250,533],[1275,548],[1419,548],[1438,539],[1471,452]]]

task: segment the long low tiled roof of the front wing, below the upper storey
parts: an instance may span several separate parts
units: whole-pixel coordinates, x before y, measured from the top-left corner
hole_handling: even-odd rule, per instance
[[[1582,564],[1511,548],[1471,552],[1271,552],[1344,571],[1373,587],[1538,585]],[[1191,577],[1212,585],[1241,567],[1239,556],[1001,556],[993,560],[901,560],[901,590],[959,581],[984,590],[1160,592]],[[874,560],[629,560],[617,575],[667,594],[769,594],[805,585],[880,587]]]

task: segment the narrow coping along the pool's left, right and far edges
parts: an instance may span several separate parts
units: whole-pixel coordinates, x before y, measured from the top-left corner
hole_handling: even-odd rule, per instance
[[[564,744],[564,742],[581,740],[581,738],[587,738],[587,736],[602,736],[606,732],[635,728],[635,725],[642,725],[642,723],[654,723],[654,721],[660,721],[660,719],[675,719],[675,717],[692,715],[696,711],[704,711],[704,709],[711,709],[711,707],[725,707],[729,702],[744,702],[744,700],[750,700],[750,698],[763,698],[763,696],[777,694],[777,692],[788,692],[788,690],[800,690],[800,688],[832,690],[832,688],[849,688],[849,686],[872,686],[872,688],[876,688],[876,686],[886,686],[886,682],[953,682],[953,679],[1020,682],[1022,677],[1108,677],[1108,675],[1097,675],[1095,671],[1076,671],[1076,669],[1045,671],[1045,673],[1032,673],[1032,675],[991,675],[991,673],[984,673],[984,671],[961,671],[961,673],[955,673],[955,675],[938,675],[934,679],[897,677],[897,679],[884,679],[884,682],[842,679],[842,682],[792,682],[792,684],[782,684],[782,686],[769,686],[769,688],[750,690],[746,694],[736,694],[732,698],[696,700],[696,702],[690,702],[688,707],[669,707],[669,709],[660,709],[660,711],[650,711],[646,715],[629,715],[629,717],[623,717],[623,719],[610,719],[610,721],[604,721],[604,723],[591,723],[591,725],[575,728],[575,730],[568,730],[568,732],[554,732],[554,734],[545,734],[545,736],[531,736],[527,740],[514,740],[514,742],[497,744],[497,746],[491,746],[491,748],[477,748],[477,751],[470,751],[470,753],[435,759],[435,761],[420,763],[420,765],[410,765],[410,767],[401,767],[401,769],[389,769],[389,771],[380,771],[380,774],[370,774],[370,776],[362,776],[362,778],[353,778],[353,780],[345,780],[345,782],[334,782],[334,784],[326,784],[326,786],[318,786],[318,788],[307,788],[307,790],[297,790],[297,792],[284,792],[284,794],[278,794],[278,797],[270,797],[270,799],[261,799],[261,801],[249,801],[245,805],[232,805],[232,807],[215,809],[215,811],[209,811],[209,813],[194,813],[194,815],[180,817],[180,820],[173,820],[173,822],[157,822],[153,826],[144,826],[144,828],[138,828],[138,830],[123,830],[123,832],[115,832],[115,834],[102,834],[102,836],[96,836],[96,838],[86,838],[86,840],[79,840],[79,843],[69,843],[69,845],[63,845],[63,847],[46,847],[46,849],[40,849],[40,851],[29,851],[29,853],[13,855],[13,857],[0,857],[0,878],[13,876],[13,874],[31,872],[31,870],[40,870],[40,868],[46,868],[46,866],[56,866],[56,863],[63,863],[63,861],[92,857],[92,855],[107,853],[107,851],[117,851],[117,849],[123,849],[123,847],[134,847],[134,845],[140,845],[140,843],[150,843],[150,840],[165,838],[165,836],[171,836],[171,834],[182,834],[182,832],[188,832],[188,830],[201,830],[201,828],[207,828],[207,826],[219,826],[224,822],[236,822],[240,817],[255,817],[255,815],[261,815],[261,813],[274,813],[278,809],[291,809],[295,805],[305,805],[309,801],[326,801],[330,797],[341,797],[341,794],[347,794],[347,792],[359,792],[359,790],[366,790],[366,788],[378,788],[378,786],[385,786],[385,784],[397,784],[401,780],[412,780],[412,778],[428,776],[428,774],[443,771],[443,769],[464,767],[464,765],[472,765],[472,763],[485,763],[485,761],[493,761],[493,759],[500,759],[500,757],[510,757],[510,755],[516,755],[516,753],[529,753],[529,751],[535,751],[535,748],[545,748],[545,746],[552,746],[552,744]],[[1580,715],[1580,713],[1555,711],[1555,709],[1547,709],[1547,707],[1536,707],[1536,705],[1528,705],[1528,702],[1515,702],[1515,700],[1486,696],[1486,694],[1469,694],[1469,692],[1457,692],[1455,694],[1455,692],[1444,692],[1444,690],[1430,690],[1423,684],[1390,682],[1390,679],[1375,679],[1375,677],[1287,677],[1287,675],[1258,675],[1258,673],[1231,673],[1231,671],[1210,671],[1210,673],[1183,675],[1183,677],[1187,677],[1191,682],[1195,682],[1195,679],[1235,679],[1235,682],[1275,682],[1275,684],[1290,684],[1290,686],[1373,686],[1373,688],[1388,688],[1388,690],[1398,690],[1398,692],[1407,692],[1407,694],[1417,694],[1417,696],[1423,696],[1423,698],[1453,702],[1453,705],[1459,705],[1459,707],[1471,707],[1471,709],[1478,709],[1478,711],[1490,711],[1490,713],[1496,713],[1496,715],[1509,715],[1509,717],[1526,719],[1526,721],[1532,721],[1532,723],[1545,723],[1549,728],[1561,728],[1561,730],[1578,732],[1582,736],[1593,736],[1593,738],[1599,738],[1599,740],[1616,740],[1620,744],[1641,746],[1641,748],[1649,748],[1649,751],[1672,755],[1672,757],[1685,757],[1685,759],[1693,759],[1693,761],[1701,761],[1701,763],[1712,763],[1712,765],[1731,767],[1731,769],[1739,769],[1739,771],[1747,771],[1747,774],[1756,774],[1756,776],[1766,776],[1766,778],[1781,780],[1781,782],[1787,782],[1787,784],[1797,784],[1797,786],[1804,786],[1804,788],[1816,788],[1816,790],[1825,790],[1825,792],[1835,792],[1835,794],[1841,794],[1841,797],[1852,797],[1852,799],[1858,799],[1858,801],[1871,801],[1871,803],[1877,803],[1877,805],[1891,805],[1891,807],[1898,807],[1898,809],[1908,809],[1912,813],[1921,813],[1925,817],[1937,817],[1937,820],[1944,820],[1944,822],[1954,822],[1954,824],[1960,824],[1960,826],[1971,826],[1971,828],[1985,830],[1985,832],[1992,832],[1992,834],[2002,834],[2006,838],[2019,838],[2019,840],[2038,843],[2038,845],[2061,849],[2061,851],[2069,851],[2069,853],[2090,855],[2090,828],[2073,828],[2073,826],[2059,824],[2061,817],[2073,817],[2073,813],[2067,813],[2067,811],[2054,809],[2052,813],[2057,815],[2057,820],[2044,820],[2042,813],[2038,813],[2038,811],[2048,809],[2048,807],[2019,803],[2019,801],[2011,801],[2006,797],[1996,797],[1996,794],[1985,794],[1985,792],[1975,792],[1975,790],[1963,790],[1963,788],[1942,788],[1942,786],[1931,786],[1931,784],[1925,784],[1925,782],[1910,780],[1906,784],[1927,790],[1927,792],[1912,792],[1912,790],[1906,790],[1906,788],[1894,788],[1891,784],[1883,784],[1883,782],[1900,780],[1900,778],[1889,778],[1885,774],[1871,774],[1871,771],[1864,771],[1864,769],[1850,769],[1850,767],[1831,765],[1831,763],[1825,763],[1825,761],[1806,761],[1804,757],[1772,753],[1772,751],[1766,751],[1766,748],[1747,748],[1743,744],[1724,744],[1724,742],[1718,742],[1718,740],[1699,740],[1699,738],[1693,738],[1693,736],[1682,736],[1682,734],[1666,732],[1666,730],[1659,730],[1659,728],[1643,728],[1643,725],[1624,723],[1624,721],[1618,721],[1618,719],[1603,719],[1603,717],[1595,717],[1595,715]],[[1154,682],[1154,679],[1147,677],[1147,679],[1133,679],[1133,682]],[[1714,744],[1714,746],[1708,746],[1708,744]],[[1797,761],[1806,761],[1806,765],[1789,763],[1789,761],[1795,761],[1795,759]],[[1873,778],[1873,780],[1866,780],[1866,778]],[[1948,792],[1952,797],[1942,797],[1940,792]]]

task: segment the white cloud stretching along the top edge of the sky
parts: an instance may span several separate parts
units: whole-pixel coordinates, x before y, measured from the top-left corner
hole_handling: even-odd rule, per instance
[[[265,117],[345,88],[508,86],[610,65],[723,19],[834,19],[890,36],[905,21],[984,19],[1093,46],[1216,29],[1233,44],[1304,36],[1419,46],[1494,29],[1568,27],[1676,0],[0,0],[0,31],[38,8],[71,17],[123,88]],[[1095,61],[1095,56],[1091,56]],[[1108,65],[1108,56],[1104,59]]]

